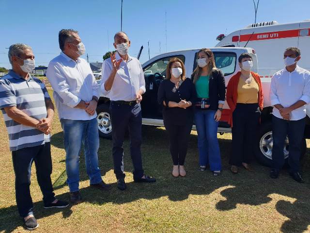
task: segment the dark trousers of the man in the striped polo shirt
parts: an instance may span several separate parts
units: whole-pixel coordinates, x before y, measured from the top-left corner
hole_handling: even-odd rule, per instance
[[[43,193],[43,201],[49,204],[55,200],[52,181],[52,158],[50,143],[36,147],[26,147],[12,151],[15,172],[15,194],[18,213],[21,217],[33,214],[33,204],[30,195],[31,165],[34,161],[37,181]]]

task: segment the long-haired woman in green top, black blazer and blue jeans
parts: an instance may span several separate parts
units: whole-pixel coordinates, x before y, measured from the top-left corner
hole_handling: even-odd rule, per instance
[[[195,124],[198,133],[199,170],[207,165],[215,176],[221,172],[221,157],[217,141],[217,126],[225,103],[225,79],[215,65],[213,52],[198,52],[197,67],[192,80],[199,102],[195,104]]]

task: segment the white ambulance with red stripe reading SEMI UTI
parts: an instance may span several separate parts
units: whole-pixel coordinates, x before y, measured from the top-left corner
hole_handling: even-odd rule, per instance
[[[301,60],[298,66],[310,70],[310,20],[285,24],[277,21],[253,23],[228,35],[220,34],[217,40],[215,47],[249,47],[255,50],[265,93],[269,91],[272,75],[284,67],[286,48],[299,48]],[[270,105],[269,98],[265,98],[264,105]]]

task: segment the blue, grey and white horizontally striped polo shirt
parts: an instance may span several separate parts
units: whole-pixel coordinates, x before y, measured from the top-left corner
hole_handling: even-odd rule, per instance
[[[49,135],[42,131],[19,124],[9,117],[4,108],[16,106],[28,116],[35,119],[47,117],[45,100],[50,100],[47,89],[39,79],[31,77],[25,80],[13,70],[0,78],[0,109],[9,134],[10,150],[35,147],[49,142]]]

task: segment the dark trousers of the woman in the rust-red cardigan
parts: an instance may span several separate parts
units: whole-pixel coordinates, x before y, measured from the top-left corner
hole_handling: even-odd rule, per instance
[[[233,142],[230,165],[250,163],[255,148],[261,112],[257,103],[237,103],[233,111]]]

